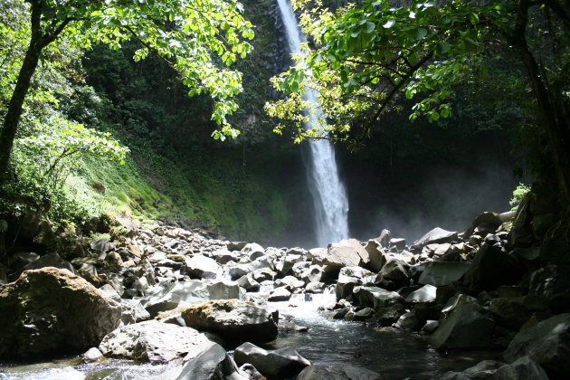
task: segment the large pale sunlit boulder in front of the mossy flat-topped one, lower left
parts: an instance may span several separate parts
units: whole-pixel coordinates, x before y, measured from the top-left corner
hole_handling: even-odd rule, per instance
[[[104,356],[167,363],[188,354],[197,355],[211,344],[194,328],[147,320],[127,325],[103,338],[99,350]]]

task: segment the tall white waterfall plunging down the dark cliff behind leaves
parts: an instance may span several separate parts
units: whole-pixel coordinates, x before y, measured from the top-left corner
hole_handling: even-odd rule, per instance
[[[288,0],[277,0],[281,18],[287,33],[287,42],[292,53],[300,51],[299,45],[305,42],[293,8]],[[314,90],[306,90],[305,100],[318,103]],[[306,129],[318,126],[322,110],[316,109],[305,125]],[[309,191],[315,206],[315,230],[318,246],[326,247],[329,242],[339,242],[348,237],[347,190],[338,178],[337,161],[332,144],[326,140],[309,141],[310,154],[304,159],[309,176]]]

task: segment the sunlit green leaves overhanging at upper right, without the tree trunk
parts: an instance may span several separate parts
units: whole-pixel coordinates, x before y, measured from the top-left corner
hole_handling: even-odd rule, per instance
[[[309,1],[294,3],[302,6]],[[318,91],[326,119],[322,125],[328,122],[325,129],[331,138],[347,138],[351,132],[354,136],[359,127],[359,136],[365,137],[386,112],[402,109],[404,99],[415,100],[410,119],[449,117],[454,85],[469,82],[481,70],[482,57],[506,52],[501,43],[511,43],[518,27],[518,2],[413,1],[393,7],[388,1],[366,1],[336,13],[318,1],[310,3],[300,24],[316,47],[305,45],[297,65],[274,79],[274,86],[287,97],[266,105],[271,116],[297,127],[298,140],[323,136],[301,128],[315,108],[303,98],[308,88]],[[552,13],[551,21],[556,19]],[[545,17],[533,15],[533,20]],[[538,21],[533,22],[529,28],[536,33]],[[549,26],[550,31],[538,33],[541,38],[556,33],[559,44],[567,39],[558,25]],[[545,75],[565,81],[566,87],[558,85],[556,91],[567,96],[567,45],[556,48],[562,49],[555,54],[556,61],[547,60],[551,52],[544,54]]]

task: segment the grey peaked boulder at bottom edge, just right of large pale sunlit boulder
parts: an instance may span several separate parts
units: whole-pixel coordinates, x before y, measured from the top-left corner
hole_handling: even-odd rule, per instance
[[[172,376],[176,380],[249,380],[249,376],[235,365],[233,358],[222,346],[210,342],[197,355],[189,353],[184,358],[180,372]]]

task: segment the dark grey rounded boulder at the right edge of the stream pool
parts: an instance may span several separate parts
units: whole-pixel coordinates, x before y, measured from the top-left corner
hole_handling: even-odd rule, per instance
[[[438,349],[489,347],[495,321],[490,313],[475,302],[463,303],[452,309],[432,335]]]

